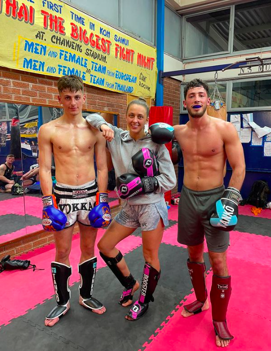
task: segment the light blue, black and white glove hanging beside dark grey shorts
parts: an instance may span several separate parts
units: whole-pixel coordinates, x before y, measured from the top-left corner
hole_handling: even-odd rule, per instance
[[[211,226],[231,231],[238,222],[238,202],[240,192],[234,187],[228,187],[223,192],[222,198],[215,203],[215,209],[210,217]]]

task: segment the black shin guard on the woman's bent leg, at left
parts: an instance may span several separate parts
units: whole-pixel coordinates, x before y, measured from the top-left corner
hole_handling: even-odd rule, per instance
[[[117,263],[119,263],[122,260],[122,253],[119,251],[116,257],[107,257],[102,252],[100,252],[100,255],[105,261],[105,263],[108,265],[108,267],[112,270],[114,275],[117,277],[120,284],[124,287],[124,290],[118,303],[122,304],[127,302],[128,300],[132,300],[132,288],[134,284],[137,283],[137,281],[133,278],[131,274],[128,277],[124,277],[120,269],[118,268]]]

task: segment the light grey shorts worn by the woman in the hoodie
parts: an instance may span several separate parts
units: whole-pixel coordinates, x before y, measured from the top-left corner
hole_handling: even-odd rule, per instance
[[[129,205],[125,202],[115,221],[128,228],[141,227],[142,231],[156,229],[160,218],[168,225],[168,212],[165,200],[155,204]]]

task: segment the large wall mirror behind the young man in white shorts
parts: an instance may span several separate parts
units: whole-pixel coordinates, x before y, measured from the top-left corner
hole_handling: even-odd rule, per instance
[[[42,229],[42,203],[40,199],[42,193],[38,172],[37,134],[42,124],[59,118],[62,113],[63,110],[60,107],[0,103],[0,163],[1,165],[7,163],[7,156],[14,153],[14,160],[10,160],[12,165],[15,166],[12,179],[14,183],[21,185],[18,188],[22,190],[16,196],[8,189],[12,185],[0,189],[2,191],[0,193],[0,220],[1,224],[4,223],[0,226],[0,244]],[[85,117],[89,113],[94,113],[94,111],[83,111],[83,116]],[[118,125],[117,114],[106,112],[103,116],[112,125]],[[119,200],[114,191],[115,172],[108,151],[107,163],[109,168],[109,204],[113,208],[119,205]],[[10,163],[8,166],[10,166]],[[3,168],[6,169],[6,166],[3,166]],[[53,155],[52,179],[54,184],[56,178]],[[5,179],[3,178],[3,180]]]

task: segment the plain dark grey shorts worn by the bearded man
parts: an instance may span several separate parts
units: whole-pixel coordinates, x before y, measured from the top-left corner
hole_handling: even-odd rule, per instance
[[[223,252],[229,246],[230,233],[211,226],[210,212],[221,199],[224,186],[194,191],[183,185],[178,205],[178,242],[195,246],[204,242],[210,251]]]

